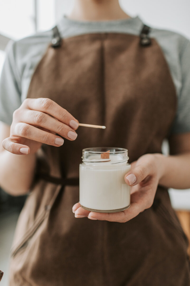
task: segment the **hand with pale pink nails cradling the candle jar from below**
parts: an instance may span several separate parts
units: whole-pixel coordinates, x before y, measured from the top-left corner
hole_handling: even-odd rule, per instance
[[[146,154],[131,164],[131,170],[124,177],[126,184],[131,186],[131,205],[128,209],[113,213],[89,212],[81,208],[78,202],[73,206],[75,217],[125,223],[146,208],[150,208],[162,177],[162,160],[160,160],[162,156],[162,154]]]

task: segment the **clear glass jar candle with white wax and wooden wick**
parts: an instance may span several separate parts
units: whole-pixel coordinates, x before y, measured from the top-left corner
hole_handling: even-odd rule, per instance
[[[103,153],[106,156],[101,155]],[[130,186],[124,181],[124,175],[130,170],[128,150],[86,148],[82,155],[83,162],[79,166],[81,207],[95,212],[119,212],[128,208]]]

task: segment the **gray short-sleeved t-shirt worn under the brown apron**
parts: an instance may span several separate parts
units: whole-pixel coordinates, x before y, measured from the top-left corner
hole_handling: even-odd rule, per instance
[[[138,16],[98,22],[75,21],[64,16],[58,29],[62,37],[103,32],[139,35],[142,25]],[[176,88],[178,108],[172,133],[190,132],[190,41],[178,33],[154,28],[150,37],[162,48]],[[0,79],[0,121],[11,125],[13,112],[26,98],[34,69],[51,39],[49,30],[8,44]]]

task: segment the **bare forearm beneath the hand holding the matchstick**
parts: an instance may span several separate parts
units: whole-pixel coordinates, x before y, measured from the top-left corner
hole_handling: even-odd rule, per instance
[[[36,155],[15,155],[6,150],[0,152],[0,186],[6,192],[18,196],[26,194],[32,184]]]

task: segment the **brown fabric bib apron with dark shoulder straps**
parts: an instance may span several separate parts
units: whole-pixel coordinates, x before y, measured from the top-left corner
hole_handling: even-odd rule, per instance
[[[154,204],[126,223],[76,219],[82,149],[128,149],[130,162],[160,153],[176,113],[166,60],[144,26],[140,38],[93,33],[54,39],[28,98],[51,98],[82,123],[75,141],[42,145],[11,252],[12,286],[189,286],[187,238],[158,187]],[[151,43],[150,43],[151,41]]]

